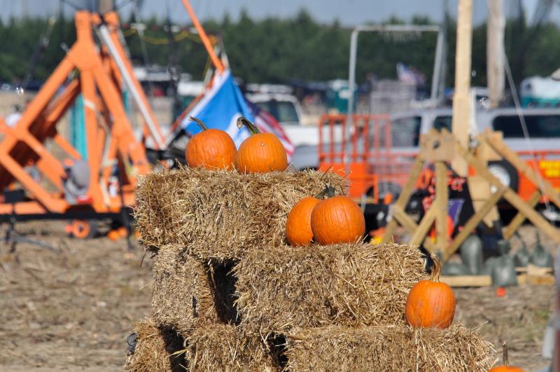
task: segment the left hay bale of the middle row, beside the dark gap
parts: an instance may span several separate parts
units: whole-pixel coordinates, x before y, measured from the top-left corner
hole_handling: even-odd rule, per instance
[[[228,273],[229,268],[209,266],[181,246],[160,249],[153,263],[152,318],[181,331],[235,320],[235,298],[227,298],[234,291]]]

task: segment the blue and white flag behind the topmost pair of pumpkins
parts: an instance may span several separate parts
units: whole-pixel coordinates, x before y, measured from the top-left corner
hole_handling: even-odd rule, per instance
[[[238,147],[249,136],[249,132],[245,127],[237,128],[237,118],[244,116],[253,123],[255,121],[229,70],[214,76],[212,88],[181,122],[181,128],[189,135],[196,135],[201,129],[195,122],[188,120],[189,116],[199,118],[208,128],[225,130]]]

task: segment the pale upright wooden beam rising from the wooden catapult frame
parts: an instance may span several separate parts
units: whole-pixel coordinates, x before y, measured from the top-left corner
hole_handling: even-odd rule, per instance
[[[472,0],[458,1],[457,46],[455,53],[455,92],[453,95],[453,135],[468,148],[468,122],[470,114],[470,54],[472,38]],[[461,156],[454,156],[451,167],[461,176],[467,176],[467,163]]]

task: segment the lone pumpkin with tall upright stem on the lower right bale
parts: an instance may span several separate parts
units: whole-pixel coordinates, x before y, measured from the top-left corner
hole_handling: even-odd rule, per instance
[[[455,315],[453,290],[440,282],[440,261],[435,254],[432,259],[430,280],[414,284],[408,294],[405,316],[414,328],[447,328]]]

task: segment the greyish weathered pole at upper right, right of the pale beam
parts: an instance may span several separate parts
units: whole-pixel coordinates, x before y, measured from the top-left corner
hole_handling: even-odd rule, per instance
[[[488,76],[488,100],[491,109],[498,107],[505,85],[503,64],[504,29],[503,0],[488,0],[486,76]]]

